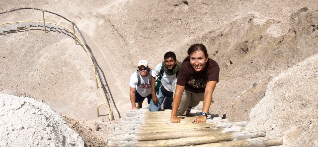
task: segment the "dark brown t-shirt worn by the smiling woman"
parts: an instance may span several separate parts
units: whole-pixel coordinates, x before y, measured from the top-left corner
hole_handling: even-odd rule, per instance
[[[185,86],[192,93],[204,93],[207,82],[219,82],[220,67],[213,59],[209,58],[205,69],[200,72],[193,70],[190,61],[183,61],[178,73],[177,84]]]

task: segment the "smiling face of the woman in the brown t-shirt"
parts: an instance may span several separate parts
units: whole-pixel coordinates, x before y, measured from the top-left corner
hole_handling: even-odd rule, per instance
[[[190,54],[190,64],[196,72],[203,71],[207,61],[208,57],[205,56],[202,50]]]

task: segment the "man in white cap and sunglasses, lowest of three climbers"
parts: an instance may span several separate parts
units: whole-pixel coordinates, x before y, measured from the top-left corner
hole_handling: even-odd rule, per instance
[[[141,108],[145,98],[147,98],[148,103],[150,103],[152,99],[151,69],[148,67],[146,60],[140,60],[138,62],[138,70],[131,75],[129,86],[129,96],[133,110]],[[137,107],[136,103],[138,103]]]

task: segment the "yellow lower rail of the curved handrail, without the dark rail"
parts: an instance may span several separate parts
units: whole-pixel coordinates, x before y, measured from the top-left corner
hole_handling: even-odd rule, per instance
[[[53,23],[53,22],[45,22],[45,21],[15,21],[15,22],[6,22],[6,23],[0,24],[0,26],[1,26],[1,25],[5,25],[5,24],[22,23],[22,22],[38,22],[38,23],[54,24],[54,25],[61,26],[61,27],[65,28],[65,29],[67,29],[69,32],[72,32],[72,30],[69,29],[69,28],[66,27],[66,26],[63,26],[63,25],[60,25],[60,24],[57,24],[57,23]],[[45,33],[46,33],[46,29],[45,29]],[[104,93],[103,93],[103,91],[102,91],[102,89],[101,89],[102,86],[101,86],[100,81],[99,81],[99,78],[98,78],[98,76],[97,76],[97,74],[96,74],[96,70],[97,70],[97,69],[96,69],[96,67],[95,67],[95,65],[94,65],[92,56],[90,55],[90,53],[89,53],[87,47],[85,46],[85,44],[83,43],[83,41],[78,37],[78,35],[77,35],[77,34],[74,34],[74,33],[73,33],[73,35],[75,36],[75,38],[78,38],[79,42],[80,42],[80,43],[82,44],[82,46],[84,47],[84,49],[85,49],[85,51],[86,51],[86,53],[87,53],[87,55],[88,55],[88,57],[89,57],[89,59],[90,59],[90,62],[91,62],[91,64],[92,64],[92,67],[93,67],[93,70],[94,70],[94,73],[95,73],[95,78],[96,78],[96,82],[97,82],[97,84],[96,84],[96,85],[97,85],[97,88],[100,88],[100,93],[101,93],[101,95],[102,95],[102,97],[103,97],[103,100],[104,100],[104,103],[102,103],[102,104],[106,104],[106,98],[105,98],[105,95],[104,95]],[[98,110],[98,108],[99,108],[99,106],[102,105],[102,104],[99,104],[99,105],[97,106],[97,116],[99,116],[99,110]],[[109,105],[106,104],[106,108],[107,108],[107,111],[108,111],[108,114],[109,114],[109,115],[108,115],[109,120],[114,120],[113,111],[112,111],[112,105],[111,105],[111,102],[110,102],[110,101],[109,101]]]

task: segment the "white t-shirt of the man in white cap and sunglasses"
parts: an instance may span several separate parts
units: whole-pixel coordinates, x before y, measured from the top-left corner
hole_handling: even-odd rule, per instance
[[[137,86],[138,84],[138,79],[137,79],[137,71],[135,71],[131,77],[130,77],[130,81],[129,81],[129,86],[136,88],[137,93],[142,96],[142,97],[147,97],[148,95],[151,94],[151,83],[149,81],[149,77],[142,77],[140,74],[140,85]],[[150,71],[150,75],[151,75],[152,71]]]

